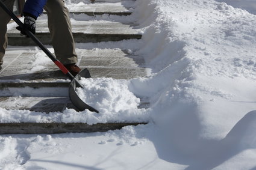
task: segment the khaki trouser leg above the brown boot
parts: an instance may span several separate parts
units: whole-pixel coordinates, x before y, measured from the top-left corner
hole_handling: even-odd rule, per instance
[[[65,7],[64,1],[49,0],[44,8],[48,14],[48,27],[57,59],[63,64],[77,62],[69,10]]]

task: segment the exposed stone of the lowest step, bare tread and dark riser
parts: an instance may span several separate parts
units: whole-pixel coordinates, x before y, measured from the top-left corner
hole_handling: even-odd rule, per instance
[[[76,109],[69,97],[0,97],[0,108],[27,109],[35,112],[62,112],[66,108]],[[149,108],[143,101],[138,108]],[[21,115],[22,116],[22,115]],[[137,126],[147,122],[98,123],[0,123],[0,135],[3,134],[39,134],[39,133],[88,133],[107,132],[124,126]]]

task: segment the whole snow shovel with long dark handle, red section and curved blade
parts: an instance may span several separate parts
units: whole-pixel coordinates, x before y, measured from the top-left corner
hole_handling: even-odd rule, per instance
[[[76,93],[76,87],[81,87],[84,88],[83,85],[78,81],[80,80],[81,77],[85,77],[85,78],[89,78],[90,73],[89,71],[85,68],[84,70],[81,70],[80,73],[78,73],[75,77],[69,72],[69,70],[67,70],[66,67],[64,67],[63,64],[61,64],[60,61],[58,61],[58,59],[52,55],[51,52],[49,52],[49,50],[43,46],[43,44],[39,41],[39,39],[37,39],[37,37],[30,32],[28,29],[25,29],[25,26],[23,25],[23,23],[16,17],[16,15],[9,10],[5,4],[0,0],[0,6],[2,8],[2,10],[4,10],[13,20],[14,22],[17,23],[17,25],[20,26],[20,28],[26,32],[26,34],[28,35],[28,37],[30,37],[34,43],[37,44],[37,46],[40,47],[40,49],[43,50],[43,52],[46,53],[46,55],[49,56],[49,58],[51,58],[51,60],[54,62],[55,65],[58,66],[58,68],[60,68],[60,70],[69,77],[70,80],[72,80],[72,82],[69,85],[69,98],[71,100],[71,102],[73,103],[73,105],[76,106],[76,108],[78,108],[80,111],[84,111],[85,109],[89,109],[89,111],[92,112],[97,112],[98,111],[93,108],[92,106],[87,105],[86,103],[83,102],[83,100],[80,99],[80,97],[78,96],[78,94]]]

